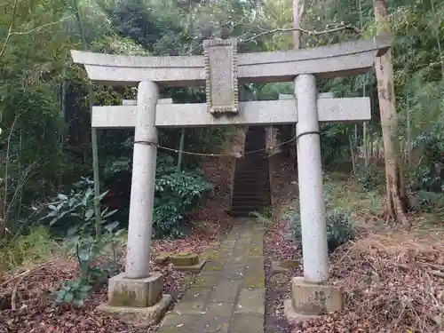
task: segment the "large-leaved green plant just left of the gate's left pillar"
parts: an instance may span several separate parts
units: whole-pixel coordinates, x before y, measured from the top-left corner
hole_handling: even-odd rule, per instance
[[[100,233],[97,234],[92,185],[90,180],[83,178],[70,194],[58,194],[58,201],[48,205],[49,212],[44,217],[51,219],[50,226],[71,226],[67,231],[65,248],[68,255],[77,258],[81,272],[78,280],[66,281],[55,293],[56,303],[82,306],[94,283],[103,282],[117,272],[117,237],[123,229],[116,229],[118,222],[106,222],[116,212],[106,208],[100,214]],[[101,194],[100,199],[105,194]],[[106,265],[99,265],[99,259],[108,248],[112,250],[113,259]]]

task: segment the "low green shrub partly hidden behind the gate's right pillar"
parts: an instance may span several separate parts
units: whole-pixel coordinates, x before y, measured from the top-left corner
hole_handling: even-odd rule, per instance
[[[287,216],[291,223],[293,238],[297,242],[302,242],[301,220],[298,210],[293,210]],[[331,209],[327,207],[327,244],[329,253],[337,247],[352,241],[356,237],[356,230],[348,211],[343,209]]]

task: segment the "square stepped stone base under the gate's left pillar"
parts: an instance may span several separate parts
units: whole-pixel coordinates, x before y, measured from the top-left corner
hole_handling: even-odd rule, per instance
[[[153,272],[143,279],[118,274],[109,279],[108,303],[99,305],[96,311],[133,325],[147,326],[160,321],[170,302],[170,295],[163,294],[162,274]]]

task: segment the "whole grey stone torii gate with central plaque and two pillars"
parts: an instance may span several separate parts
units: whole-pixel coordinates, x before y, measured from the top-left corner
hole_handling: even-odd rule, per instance
[[[293,295],[300,299],[293,299],[292,306],[299,313],[325,308],[326,290],[319,288],[329,280],[329,265],[319,123],[369,120],[370,104],[368,98],[318,97],[316,78],[365,73],[391,42],[391,36],[378,36],[313,49],[237,54],[235,39],[209,40],[203,43],[203,56],[177,57],[73,51],[74,62],[84,65],[92,81],[139,87],[137,102],[92,108],[92,127],[135,128],[125,272],[110,279],[108,303],[102,309],[149,322],[158,320],[170,304],[170,296],[163,295],[162,275],[149,266],[157,129],[284,123],[297,123],[304,256],[304,278],[296,287],[293,282]],[[238,102],[238,84],[251,82],[294,82],[294,96]],[[206,103],[172,104],[159,99],[159,85],[190,84],[206,86]]]

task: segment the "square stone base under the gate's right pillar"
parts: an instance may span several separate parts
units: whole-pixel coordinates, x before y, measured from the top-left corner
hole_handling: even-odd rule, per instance
[[[341,310],[344,297],[333,286],[307,282],[303,277],[297,276],[291,280],[291,299],[287,299],[284,305],[290,321],[304,321]]]

